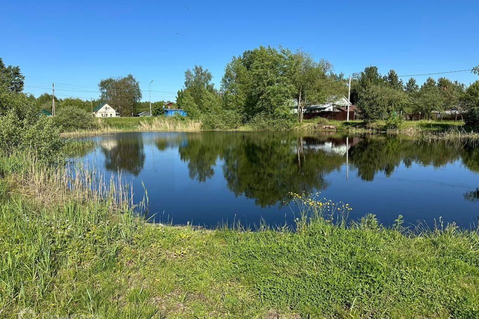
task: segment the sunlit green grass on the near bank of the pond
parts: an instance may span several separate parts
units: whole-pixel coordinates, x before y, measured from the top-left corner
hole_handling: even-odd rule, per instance
[[[152,225],[106,193],[37,200],[58,178],[23,165],[0,160],[1,318],[479,317],[476,231],[335,224],[299,195],[295,231]]]

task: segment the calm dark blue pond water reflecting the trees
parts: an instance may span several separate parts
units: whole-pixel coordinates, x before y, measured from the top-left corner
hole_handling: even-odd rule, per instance
[[[92,140],[76,160],[122,173],[134,200],[148,190],[157,222],[215,227],[291,223],[290,192],[349,203],[349,219],[385,225],[434,219],[476,225],[479,147],[397,136],[295,132],[121,133]],[[286,202],[286,204],[285,204]],[[289,204],[288,204],[289,203]]]

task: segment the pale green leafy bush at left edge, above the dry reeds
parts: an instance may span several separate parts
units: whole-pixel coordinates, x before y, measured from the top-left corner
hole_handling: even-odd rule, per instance
[[[56,161],[63,145],[60,130],[51,118],[20,120],[14,112],[0,117],[0,150],[8,156],[19,151],[32,153],[40,160]]]

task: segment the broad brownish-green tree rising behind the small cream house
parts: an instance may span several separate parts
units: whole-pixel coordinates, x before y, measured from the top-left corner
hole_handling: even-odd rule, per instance
[[[141,99],[140,83],[128,74],[125,77],[107,78],[98,83],[101,100],[115,108],[121,116],[136,113]]]

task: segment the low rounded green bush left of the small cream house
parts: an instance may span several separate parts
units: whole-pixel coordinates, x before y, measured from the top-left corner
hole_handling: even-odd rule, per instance
[[[53,119],[62,132],[91,130],[98,126],[90,113],[72,106],[61,108]]]

